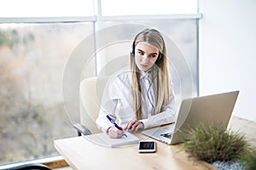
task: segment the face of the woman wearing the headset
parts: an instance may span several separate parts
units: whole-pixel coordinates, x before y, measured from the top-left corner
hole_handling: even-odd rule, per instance
[[[137,42],[135,63],[140,71],[148,71],[159,56],[159,50],[148,42]]]

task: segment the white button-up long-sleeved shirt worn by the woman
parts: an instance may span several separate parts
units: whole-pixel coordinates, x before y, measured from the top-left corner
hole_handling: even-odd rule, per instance
[[[170,96],[171,102],[164,108],[164,111],[151,116],[154,112],[154,85],[152,77],[148,72],[140,72],[140,83],[143,94],[142,112],[144,128],[156,127],[166,123],[175,121],[175,101],[174,95]],[[172,82],[170,82],[172,89]],[[121,127],[125,127],[128,122],[136,119],[135,111],[133,111],[131,94],[131,71],[123,72],[113,78],[109,84],[109,88],[104,90],[102,97],[102,106],[99,116],[96,119],[96,124],[102,131],[105,132],[108,127],[113,126],[106,117],[107,114],[115,118],[115,122]]]

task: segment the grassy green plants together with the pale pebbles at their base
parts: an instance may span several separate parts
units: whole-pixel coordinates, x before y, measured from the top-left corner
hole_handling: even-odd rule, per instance
[[[220,124],[199,124],[184,135],[187,140],[183,150],[190,157],[219,169],[256,169],[256,152],[239,132],[226,130]]]

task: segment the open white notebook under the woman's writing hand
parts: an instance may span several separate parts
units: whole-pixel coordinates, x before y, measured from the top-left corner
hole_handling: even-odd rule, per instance
[[[93,143],[104,145],[107,147],[116,147],[127,144],[137,144],[140,139],[132,133],[125,132],[127,137],[123,136],[119,139],[112,139],[107,133],[95,133],[84,136],[85,139],[90,140]]]

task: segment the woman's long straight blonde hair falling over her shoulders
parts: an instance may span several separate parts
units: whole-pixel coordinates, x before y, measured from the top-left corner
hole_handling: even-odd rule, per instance
[[[153,115],[158,114],[170,103],[172,90],[169,86],[169,71],[167,65],[166,44],[160,32],[154,29],[145,29],[137,34],[132,44],[131,52],[131,93],[133,97],[133,109],[136,111],[137,120],[142,119],[142,89],[140,84],[140,73],[135,63],[135,47],[137,42],[148,42],[150,45],[159,49],[155,64],[152,66],[152,77],[154,85],[155,107]]]

